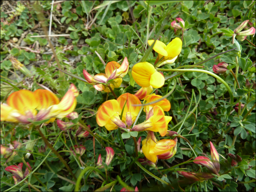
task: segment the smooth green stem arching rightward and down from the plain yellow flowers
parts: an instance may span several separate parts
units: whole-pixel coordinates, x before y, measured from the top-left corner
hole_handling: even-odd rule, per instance
[[[215,75],[214,73],[212,73],[210,71],[206,71],[206,70],[202,70],[202,69],[159,69],[159,68],[156,68],[156,69],[157,69],[157,71],[200,72],[200,73],[205,73],[205,74],[211,75],[225,85],[225,87],[227,88],[227,91],[229,91],[231,103],[234,103],[233,93],[232,93],[229,85],[225,82],[225,80],[223,80],[218,75]]]

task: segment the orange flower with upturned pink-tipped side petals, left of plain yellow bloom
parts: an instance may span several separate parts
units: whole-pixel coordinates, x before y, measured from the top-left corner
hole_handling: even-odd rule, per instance
[[[83,75],[87,82],[93,85],[98,91],[110,92],[108,84],[111,89],[120,87],[123,81],[122,78],[127,74],[128,69],[129,63],[127,57],[125,57],[121,65],[116,61],[110,61],[106,64],[105,74],[101,73],[91,76],[85,69],[83,69]]]

